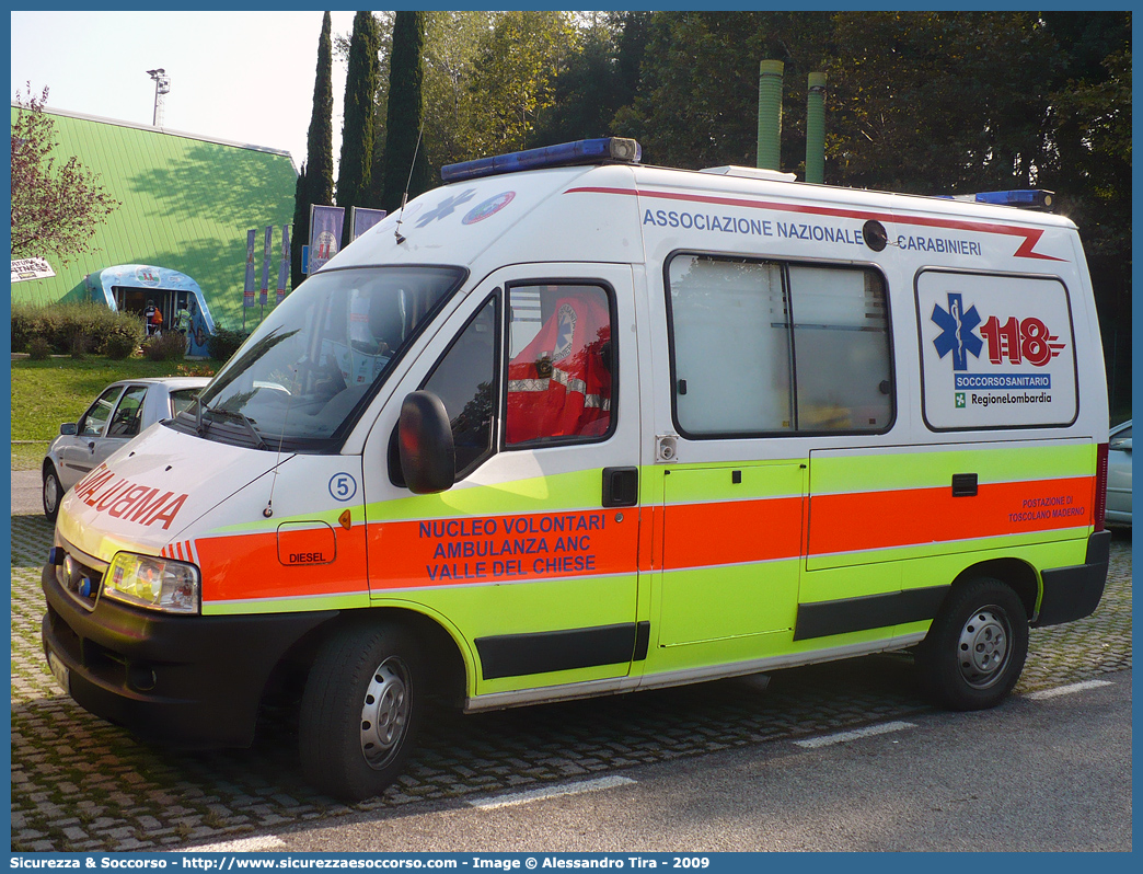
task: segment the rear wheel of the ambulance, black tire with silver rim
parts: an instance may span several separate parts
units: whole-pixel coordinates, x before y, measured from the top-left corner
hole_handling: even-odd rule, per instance
[[[983,710],[1016,685],[1028,657],[1028,612],[990,578],[956,586],[917,647],[921,683],[952,710]]]

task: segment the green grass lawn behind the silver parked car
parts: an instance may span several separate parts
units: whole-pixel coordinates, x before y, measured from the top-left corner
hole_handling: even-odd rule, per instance
[[[217,361],[150,361],[102,356],[11,363],[11,469],[37,470],[62,422],[74,422],[115,380],[211,375]],[[16,443],[33,440],[33,443]]]

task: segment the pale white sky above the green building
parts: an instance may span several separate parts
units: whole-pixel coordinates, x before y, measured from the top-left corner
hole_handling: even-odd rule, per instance
[[[305,160],[321,11],[13,11],[11,85],[48,87],[49,110],[150,126],[155,84],[170,77],[163,128],[288,151]],[[349,35],[352,11],[331,13]],[[334,158],[345,64],[334,57]]]

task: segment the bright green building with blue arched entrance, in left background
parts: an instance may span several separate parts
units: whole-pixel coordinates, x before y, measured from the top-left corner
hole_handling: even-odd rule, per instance
[[[207,329],[243,324],[247,232],[256,229],[256,289],[263,281],[265,229],[273,227],[269,295],[275,302],[282,227],[294,220],[297,170],[289,152],[208,140],[161,128],[46,110],[56,154],[98,174],[119,200],[87,251],[66,265],[50,253],[54,277],[14,281],[14,303],[95,300],[142,313],[150,302],[170,325],[182,305],[201,310]],[[17,108],[13,106],[15,120]],[[287,271],[288,289],[288,271]],[[258,293],[246,325],[259,320]]]

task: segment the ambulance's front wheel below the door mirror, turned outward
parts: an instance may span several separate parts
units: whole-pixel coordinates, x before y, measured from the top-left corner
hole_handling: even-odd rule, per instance
[[[416,639],[398,625],[353,625],[320,647],[302,694],[302,772],[343,801],[379,795],[411,750],[424,691]]]

